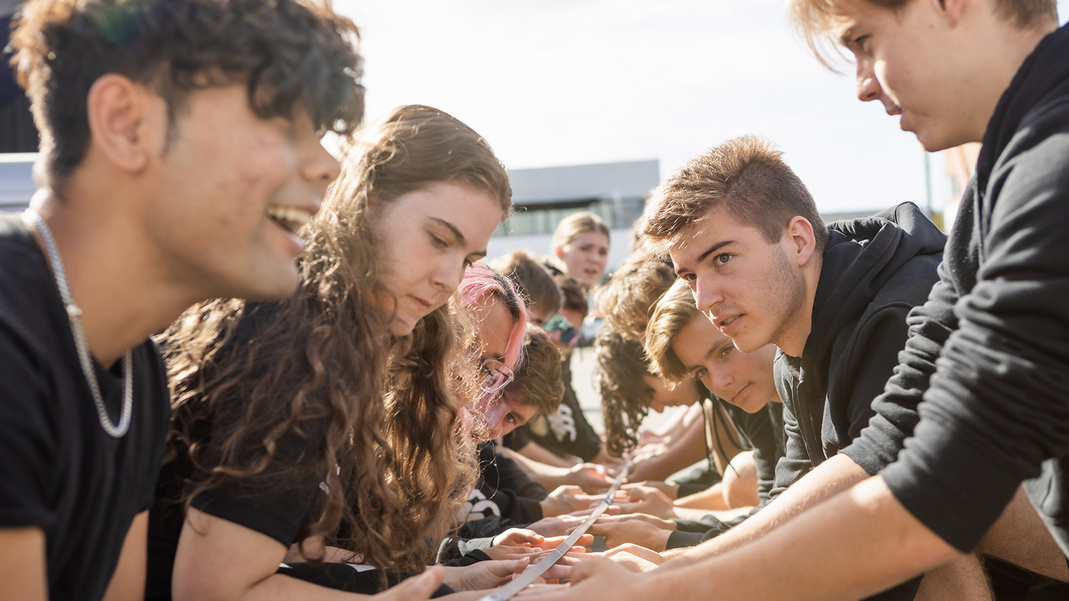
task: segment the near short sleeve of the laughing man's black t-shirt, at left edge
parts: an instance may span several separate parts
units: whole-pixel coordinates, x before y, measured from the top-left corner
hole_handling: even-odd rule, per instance
[[[58,442],[48,428],[50,386],[29,343],[0,321],[0,527],[44,527]]]

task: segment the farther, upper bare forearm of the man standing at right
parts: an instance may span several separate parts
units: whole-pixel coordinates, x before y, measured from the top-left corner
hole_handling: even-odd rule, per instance
[[[713,557],[763,537],[799,513],[812,508],[857,482],[868,474],[845,454],[838,454],[818,465],[804,478],[783,492],[773,503],[742,524],[698,546],[670,553],[666,568],[678,567]]]

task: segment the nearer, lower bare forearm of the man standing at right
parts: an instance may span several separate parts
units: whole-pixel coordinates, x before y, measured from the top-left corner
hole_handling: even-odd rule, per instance
[[[680,601],[708,598],[709,583],[716,583],[717,599],[732,601],[854,600],[959,556],[873,477],[760,540],[651,576]]]

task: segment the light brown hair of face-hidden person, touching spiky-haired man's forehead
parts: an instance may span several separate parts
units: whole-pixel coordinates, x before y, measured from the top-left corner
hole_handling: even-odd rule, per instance
[[[605,323],[620,334],[640,340],[657,298],[676,281],[671,264],[645,250],[632,252],[594,295]]]

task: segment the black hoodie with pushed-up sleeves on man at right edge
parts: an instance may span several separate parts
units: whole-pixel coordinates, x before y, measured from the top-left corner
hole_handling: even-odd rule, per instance
[[[873,457],[912,433],[881,475],[913,515],[966,552],[1027,480],[1069,554],[1066,27],[1039,43],[998,101],[940,276],[911,315],[879,415],[846,452]],[[914,430],[896,416],[921,395]]]

